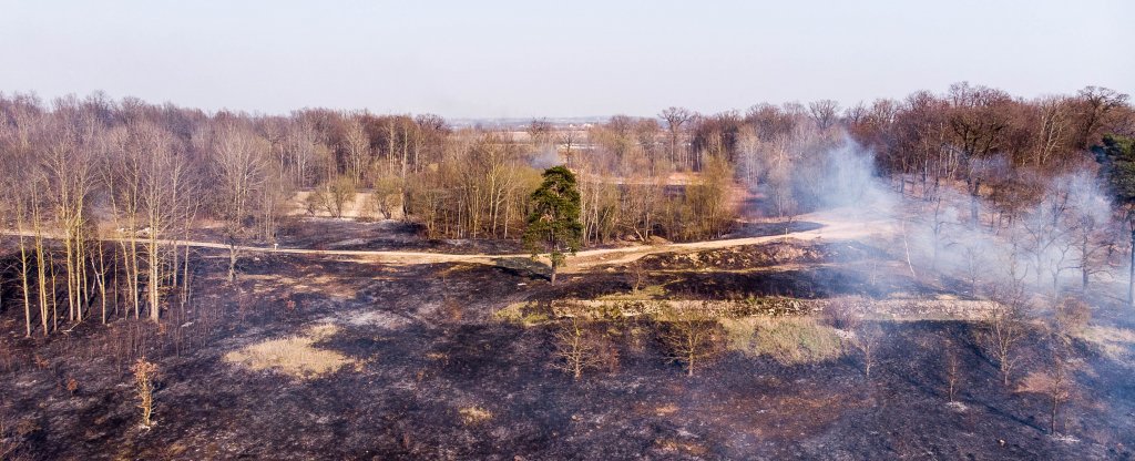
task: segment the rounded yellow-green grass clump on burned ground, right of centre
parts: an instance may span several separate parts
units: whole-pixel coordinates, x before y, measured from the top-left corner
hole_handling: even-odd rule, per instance
[[[782,364],[816,363],[843,354],[835,328],[810,317],[746,317],[720,319],[728,347],[749,357],[767,357]]]

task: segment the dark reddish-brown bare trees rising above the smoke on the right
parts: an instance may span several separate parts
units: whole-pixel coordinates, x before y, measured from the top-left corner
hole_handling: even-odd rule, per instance
[[[1091,162],[1085,153],[1102,136],[1135,132],[1135,112],[1128,95],[1109,89],[1025,100],[959,83],[944,94],[849,108],[844,123],[900,190],[962,183],[977,221],[980,199],[1018,211],[1035,201],[1036,182]]]

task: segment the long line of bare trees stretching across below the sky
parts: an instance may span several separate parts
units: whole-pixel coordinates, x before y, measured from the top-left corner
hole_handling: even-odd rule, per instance
[[[520,238],[540,170],[564,162],[578,176],[582,245],[692,241],[731,229],[739,188],[763,196],[767,216],[822,206],[838,159],[821,152],[849,136],[898,190],[962,190],[973,221],[983,202],[1011,220],[1043,200],[1039,184],[1091,162],[1104,136],[1133,133],[1128,97],[1112,90],[1027,100],[966,83],[847,109],[669,108],[522,131],[459,129],[435,115],[207,114],[101,93],[50,103],[0,94],[0,181],[31,335],[92,317],[157,319],[163,303],[185,302],[182,242],[202,220],[220,224],[235,279],[239,245],[274,242],[299,190],[339,209],[369,190],[375,217],[417,223],[431,238]]]

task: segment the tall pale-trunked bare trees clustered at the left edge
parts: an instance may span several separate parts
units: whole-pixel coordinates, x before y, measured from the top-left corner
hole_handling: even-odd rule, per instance
[[[242,117],[95,94],[0,98],[5,227],[17,246],[25,333],[87,319],[159,320],[190,295],[199,217],[268,236],[288,185]]]

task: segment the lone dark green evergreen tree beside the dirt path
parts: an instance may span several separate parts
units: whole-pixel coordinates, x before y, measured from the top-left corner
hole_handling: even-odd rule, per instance
[[[575,254],[583,237],[579,220],[580,196],[575,175],[563,166],[544,171],[544,182],[532,192],[531,215],[524,229],[524,244],[532,257],[547,254],[552,261],[552,283],[566,254]]]

